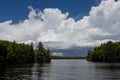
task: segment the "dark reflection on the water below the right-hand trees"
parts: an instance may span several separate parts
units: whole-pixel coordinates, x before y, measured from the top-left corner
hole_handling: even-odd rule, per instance
[[[120,80],[120,63],[95,63],[95,68],[101,80]]]

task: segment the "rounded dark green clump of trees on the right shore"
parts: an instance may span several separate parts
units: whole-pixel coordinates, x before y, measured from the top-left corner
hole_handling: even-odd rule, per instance
[[[88,51],[88,61],[95,62],[120,62],[120,42],[109,41]]]

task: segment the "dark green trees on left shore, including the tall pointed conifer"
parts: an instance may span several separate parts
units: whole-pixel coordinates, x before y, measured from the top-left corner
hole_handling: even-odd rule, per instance
[[[0,62],[6,63],[34,63],[50,62],[50,50],[39,42],[34,50],[33,43],[24,44],[15,41],[0,40]]]

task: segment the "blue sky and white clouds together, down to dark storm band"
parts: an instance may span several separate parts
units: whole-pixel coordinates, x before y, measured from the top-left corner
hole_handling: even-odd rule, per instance
[[[68,49],[120,40],[120,0],[0,0],[0,39]]]

